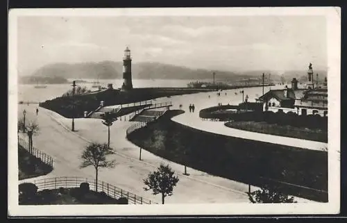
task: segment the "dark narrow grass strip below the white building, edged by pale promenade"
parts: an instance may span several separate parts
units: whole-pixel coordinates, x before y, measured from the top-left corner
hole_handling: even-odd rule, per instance
[[[290,138],[299,138],[303,140],[312,140],[318,142],[328,142],[328,131],[323,131],[322,129],[304,129],[296,126],[282,126],[279,124],[254,121],[227,122],[226,126],[234,129],[253,131],[256,133],[280,135]]]

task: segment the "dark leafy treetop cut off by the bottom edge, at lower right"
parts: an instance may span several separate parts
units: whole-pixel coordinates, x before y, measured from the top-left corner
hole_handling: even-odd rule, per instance
[[[296,203],[293,196],[285,195],[269,185],[264,185],[260,190],[248,192],[248,199],[252,203]]]

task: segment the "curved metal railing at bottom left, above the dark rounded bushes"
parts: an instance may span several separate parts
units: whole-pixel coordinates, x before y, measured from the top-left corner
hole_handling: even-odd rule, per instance
[[[24,180],[24,182],[26,181]],[[145,199],[144,197],[135,195],[131,192],[128,192],[127,190],[118,188],[110,183],[105,183],[103,181],[98,181],[96,183],[95,180],[83,177],[60,176],[27,182],[34,183],[37,186],[38,191],[45,189],[53,190],[58,188],[78,188],[81,183],[89,183],[90,190],[96,191],[97,185],[97,189],[99,192],[103,191],[106,193],[106,195],[114,199],[126,197],[126,199],[128,199],[128,204],[158,204],[151,201],[150,199]]]

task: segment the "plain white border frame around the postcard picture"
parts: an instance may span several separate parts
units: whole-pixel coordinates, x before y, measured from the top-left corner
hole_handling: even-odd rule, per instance
[[[142,206],[69,205],[19,206],[17,160],[17,17],[19,16],[257,16],[322,15],[326,18],[328,49],[328,203],[312,204],[165,204]],[[309,26],[310,24],[307,24]],[[282,215],[335,214],[340,204],[340,64],[341,8],[98,8],[98,9],[12,9],[9,13],[8,48],[8,214],[10,216],[51,215]],[[312,160],[314,161],[314,160]]]

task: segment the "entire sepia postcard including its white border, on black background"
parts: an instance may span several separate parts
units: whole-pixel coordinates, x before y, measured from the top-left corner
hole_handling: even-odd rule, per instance
[[[340,15],[12,10],[9,214],[338,213]]]

